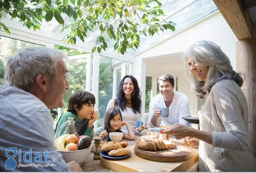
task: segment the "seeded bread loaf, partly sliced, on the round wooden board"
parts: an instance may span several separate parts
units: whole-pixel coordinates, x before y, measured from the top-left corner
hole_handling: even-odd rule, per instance
[[[159,139],[155,135],[144,135],[138,139],[137,146],[141,150],[148,151],[167,150],[173,149],[175,147],[175,144],[171,141],[168,141],[166,143],[167,145],[164,143],[163,140]]]

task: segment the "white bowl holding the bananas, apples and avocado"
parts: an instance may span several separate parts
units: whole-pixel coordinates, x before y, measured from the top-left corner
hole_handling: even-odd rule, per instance
[[[62,158],[66,163],[75,161],[78,164],[83,164],[88,158],[91,152],[92,144],[87,149],[75,150],[75,151],[59,151],[62,154]]]

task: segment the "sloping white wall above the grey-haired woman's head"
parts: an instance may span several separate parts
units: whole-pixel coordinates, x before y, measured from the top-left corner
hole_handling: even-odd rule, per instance
[[[233,68],[236,69],[237,38],[219,11],[148,50],[136,54],[135,59],[183,52],[199,40],[208,40],[218,44],[230,58]]]

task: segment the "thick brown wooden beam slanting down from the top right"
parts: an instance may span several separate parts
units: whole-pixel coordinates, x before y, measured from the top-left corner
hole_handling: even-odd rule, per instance
[[[238,40],[252,38],[252,22],[249,10],[240,0],[213,0]]]

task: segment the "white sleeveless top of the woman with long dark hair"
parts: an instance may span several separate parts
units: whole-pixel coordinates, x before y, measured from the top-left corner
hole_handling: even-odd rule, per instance
[[[108,105],[107,105],[107,110],[109,110],[110,108],[114,107],[114,100],[115,99],[111,99],[109,102],[108,102]],[[127,122],[130,127],[132,129],[135,129],[135,121],[138,121],[140,120],[141,118],[141,113],[134,113],[132,111],[132,108],[130,107],[127,107],[126,109],[124,109],[124,111],[122,111],[120,109],[121,113],[122,113],[122,119],[123,121]],[[126,128],[126,125],[124,125],[122,128],[121,128],[122,132],[123,133],[126,133],[128,134],[128,130]]]

